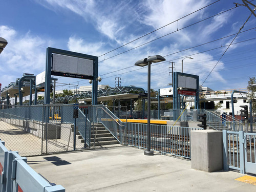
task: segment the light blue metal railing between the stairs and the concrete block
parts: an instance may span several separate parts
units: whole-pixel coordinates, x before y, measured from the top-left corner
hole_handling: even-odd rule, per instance
[[[146,124],[127,123],[127,145],[146,148]],[[151,150],[190,159],[190,131],[201,128],[151,124]]]

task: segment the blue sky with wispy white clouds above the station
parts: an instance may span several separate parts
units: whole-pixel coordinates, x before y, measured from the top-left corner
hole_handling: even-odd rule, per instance
[[[151,88],[168,87],[167,84],[172,82],[168,61],[175,62],[174,71],[181,72],[181,60],[188,56],[194,59],[184,60],[184,73],[199,75],[202,83],[234,38],[234,35],[229,35],[236,34],[250,14],[246,7],[240,6],[206,19],[234,8],[234,2],[242,4],[241,0],[221,0],[181,18],[214,2],[1,0],[0,36],[7,39],[8,45],[0,54],[0,83],[5,87],[22,77],[23,73],[36,75],[44,71],[47,47],[103,55],[99,57],[100,83],[111,87],[115,86],[115,77],[120,77],[122,86],[133,85],[146,90],[147,68],[139,68],[134,63],[156,54],[164,56],[166,62],[152,66]],[[256,1],[252,3],[256,4]],[[177,19],[178,22],[174,22]],[[230,46],[203,86],[214,90],[246,88],[249,77],[254,77],[256,71],[255,27],[256,18],[252,15],[242,29],[248,31],[237,36],[235,44]],[[161,36],[164,37],[159,38]],[[159,39],[154,40],[156,38]],[[151,40],[154,41],[147,43]],[[209,41],[214,42],[205,44]],[[198,46],[201,44],[205,45]],[[198,47],[192,48],[195,46]],[[117,54],[120,55],[115,56]],[[59,83],[76,84],[78,87],[89,85],[88,80],[56,78]],[[56,90],[62,89],[74,89],[74,86],[59,86]]]

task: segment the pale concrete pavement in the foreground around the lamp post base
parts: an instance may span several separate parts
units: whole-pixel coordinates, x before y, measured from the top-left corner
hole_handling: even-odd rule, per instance
[[[28,164],[66,191],[255,191],[238,172],[207,173],[170,156],[134,147],[29,157]]]

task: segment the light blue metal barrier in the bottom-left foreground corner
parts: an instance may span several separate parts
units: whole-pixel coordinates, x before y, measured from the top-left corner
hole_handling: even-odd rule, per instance
[[[0,140],[1,192],[65,192],[61,185],[55,185],[38,175],[28,164],[27,158],[17,152],[8,151]]]

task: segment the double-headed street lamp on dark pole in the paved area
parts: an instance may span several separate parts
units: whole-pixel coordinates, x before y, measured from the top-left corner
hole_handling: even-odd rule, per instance
[[[161,62],[164,61],[165,58],[161,55],[155,55],[151,57],[147,57],[141,60],[138,60],[135,63],[135,66],[147,67],[147,127],[146,127],[146,145],[147,150],[144,151],[144,155],[154,155],[153,151],[150,151],[151,146],[151,130],[150,130],[150,73],[151,73],[151,63],[152,62]]]

